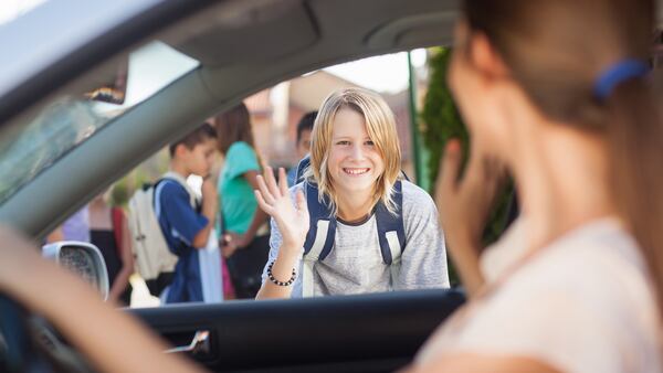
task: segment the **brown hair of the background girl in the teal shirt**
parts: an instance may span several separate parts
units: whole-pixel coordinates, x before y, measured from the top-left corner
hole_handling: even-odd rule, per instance
[[[219,151],[225,156],[231,145],[244,141],[255,149],[251,115],[244,103],[234,106],[214,117]]]

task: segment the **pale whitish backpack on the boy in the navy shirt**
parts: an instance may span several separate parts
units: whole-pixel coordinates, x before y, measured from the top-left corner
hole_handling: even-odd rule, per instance
[[[150,292],[159,295],[160,289],[165,287],[160,277],[169,277],[175,270],[178,257],[168,248],[168,243],[159,225],[159,220],[155,211],[155,191],[157,185],[162,182],[178,182],[178,179],[169,177],[164,178],[154,184],[144,184],[137,190],[129,200],[128,225],[131,233],[131,249],[136,258],[136,271],[149,285],[152,285]],[[191,205],[196,205],[194,196],[191,195]],[[161,285],[158,285],[161,284]],[[155,288],[158,287],[158,288]]]

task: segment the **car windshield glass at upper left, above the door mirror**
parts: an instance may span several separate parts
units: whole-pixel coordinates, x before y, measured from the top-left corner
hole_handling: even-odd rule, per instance
[[[91,100],[87,95],[61,95],[27,122],[0,130],[0,203],[49,166],[85,141],[104,125],[155,95],[199,62],[161,42],[129,54],[126,96],[120,105]]]

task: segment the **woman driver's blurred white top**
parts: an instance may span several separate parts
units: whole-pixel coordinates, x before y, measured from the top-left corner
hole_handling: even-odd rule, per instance
[[[482,256],[488,283],[526,254],[524,232],[516,222]],[[565,373],[663,372],[659,320],[635,242],[615,219],[603,219],[541,248],[454,313],[415,364],[467,352],[532,358]]]

